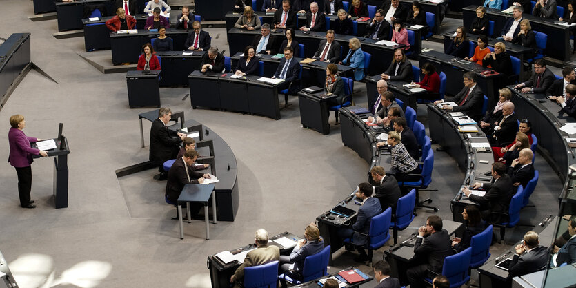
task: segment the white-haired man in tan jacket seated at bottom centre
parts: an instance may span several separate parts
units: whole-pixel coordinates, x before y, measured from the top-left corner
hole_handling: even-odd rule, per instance
[[[263,265],[268,262],[280,259],[280,249],[275,246],[268,246],[268,232],[264,229],[258,229],[254,233],[256,249],[248,252],[242,265],[236,269],[236,272],[230,277],[230,283],[234,283],[235,288],[244,287],[244,268],[257,265]]]

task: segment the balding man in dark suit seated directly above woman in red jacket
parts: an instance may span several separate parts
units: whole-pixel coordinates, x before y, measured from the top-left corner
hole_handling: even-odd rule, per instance
[[[502,117],[494,123],[486,123],[490,126],[488,135],[493,147],[504,147],[516,139],[518,131],[518,119],[514,113],[514,104],[508,102],[502,107]],[[482,125],[484,128],[484,125]]]

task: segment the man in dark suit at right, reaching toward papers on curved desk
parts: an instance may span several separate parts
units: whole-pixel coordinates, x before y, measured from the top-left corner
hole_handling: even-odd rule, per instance
[[[493,183],[474,183],[471,188],[486,190],[484,196],[473,195],[468,187],[464,187],[462,192],[470,200],[480,204],[482,219],[490,223],[498,223],[504,220],[503,217],[491,217],[492,212],[508,213],[510,199],[512,199],[515,189],[513,189],[510,176],[506,174],[506,165],[500,162],[492,164]]]

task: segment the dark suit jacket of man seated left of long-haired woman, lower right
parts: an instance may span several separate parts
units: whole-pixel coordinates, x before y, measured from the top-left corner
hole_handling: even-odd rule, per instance
[[[417,238],[414,243],[414,254],[427,260],[428,269],[439,273],[444,266],[444,258],[453,254],[451,243],[448,231],[442,229],[424,239]]]

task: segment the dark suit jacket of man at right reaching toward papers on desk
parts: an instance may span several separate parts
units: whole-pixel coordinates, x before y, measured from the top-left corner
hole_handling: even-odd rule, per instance
[[[485,210],[508,213],[510,199],[514,193],[512,181],[508,175],[502,175],[494,183],[485,183],[484,190],[487,190],[484,196],[470,194],[468,197],[479,203]]]

